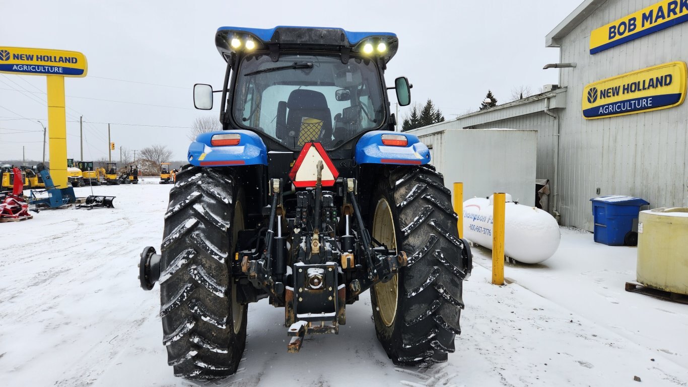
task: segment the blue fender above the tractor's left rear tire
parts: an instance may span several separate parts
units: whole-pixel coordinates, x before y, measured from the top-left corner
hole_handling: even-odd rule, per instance
[[[231,133],[241,135],[238,145],[211,145],[213,135]],[[189,145],[186,158],[195,166],[268,165],[268,151],[261,137],[252,131],[240,129],[201,133]]]

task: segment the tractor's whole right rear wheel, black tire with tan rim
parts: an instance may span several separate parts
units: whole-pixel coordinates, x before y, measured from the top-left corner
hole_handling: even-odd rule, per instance
[[[369,230],[408,255],[392,280],[371,289],[378,340],[398,366],[446,362],[461,333],[461,257],[469,248],[458,238],[451,192],[431,166],[399,167],[378,181]]]

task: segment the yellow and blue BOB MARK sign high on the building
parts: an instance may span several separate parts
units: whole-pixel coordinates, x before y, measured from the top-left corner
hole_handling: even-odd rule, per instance
[[[688,21],[688,0],[664,0],[634,12],[590,34],[590,54]]]

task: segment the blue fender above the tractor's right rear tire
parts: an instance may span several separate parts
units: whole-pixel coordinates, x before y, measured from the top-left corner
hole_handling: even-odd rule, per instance
[[[383,134],[404,135],[407,146],[383,144]],[[391,131],[369,131],[356,143],[356,164],[423,165],[430,162],[430,151],[412,134]]]

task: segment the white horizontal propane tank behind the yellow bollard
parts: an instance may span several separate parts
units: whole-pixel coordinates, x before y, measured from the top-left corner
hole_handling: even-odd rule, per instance
[[[492,248],[492,197],[464,201],[464,238]],[[544,210],[522,206],[506,195],[504,254],[522,263],[541,263],[559,248],[557,221]]]

